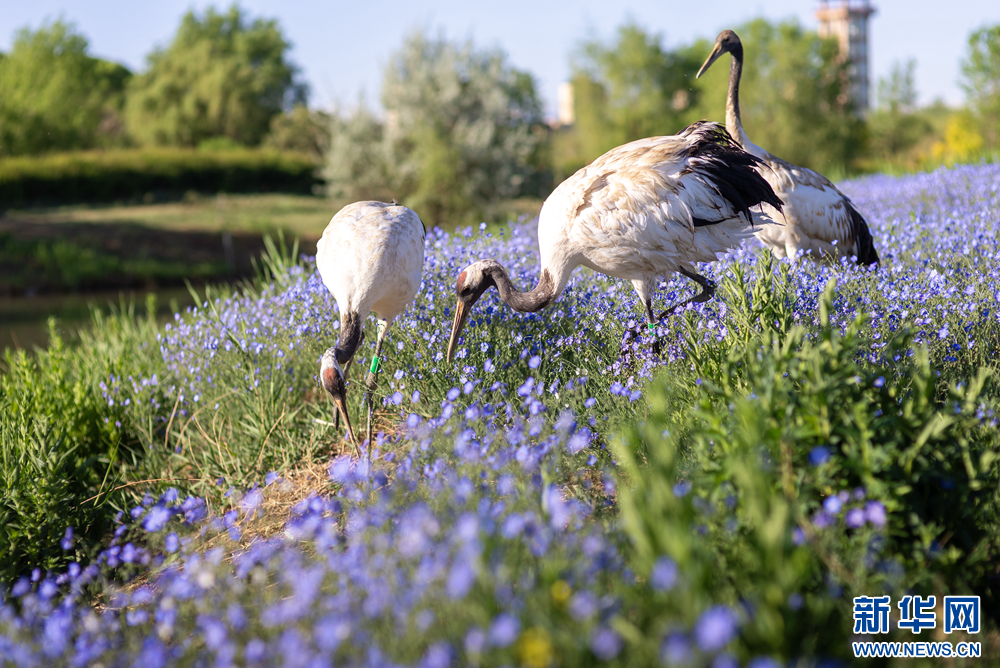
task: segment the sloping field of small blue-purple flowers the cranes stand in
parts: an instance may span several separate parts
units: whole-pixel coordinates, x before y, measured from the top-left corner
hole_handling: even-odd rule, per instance
[[[488,292],[446,364],[458,272],[531,287],[537,240],[429,232],[370,462],[316,382],[312,258],[8,355],[0,662],[834,665],[883,594],[979,595],[984,630],[866,639],[1000,656],[1000,166],[843,189],[881,268],[750,243],[659,357],[631,285],[581,269],[536,314]]]

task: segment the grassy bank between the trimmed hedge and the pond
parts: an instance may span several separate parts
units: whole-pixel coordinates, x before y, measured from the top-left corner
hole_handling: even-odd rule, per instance
[[[315,253],[335,212],[323,198],[285,194],[12,209],[0,216],[0,294],[235,281],[252,275],[267,234]]]

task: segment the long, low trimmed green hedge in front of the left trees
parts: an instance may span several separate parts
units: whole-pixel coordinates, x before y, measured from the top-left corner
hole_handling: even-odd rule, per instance
[[[288,191],[319,183],[305,155],[255,149],[81,151],[0,160],[0,207],[180,194]]]

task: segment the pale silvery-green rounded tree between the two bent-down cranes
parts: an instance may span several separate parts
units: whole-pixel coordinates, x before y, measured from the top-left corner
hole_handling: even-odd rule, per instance
[[[382,106],[378,128],[363,109],[335,122],[331,195],[385,188],[441,225],[539,189],[546,133],[535,82],[500,50],[415,33],[385,69]]]

